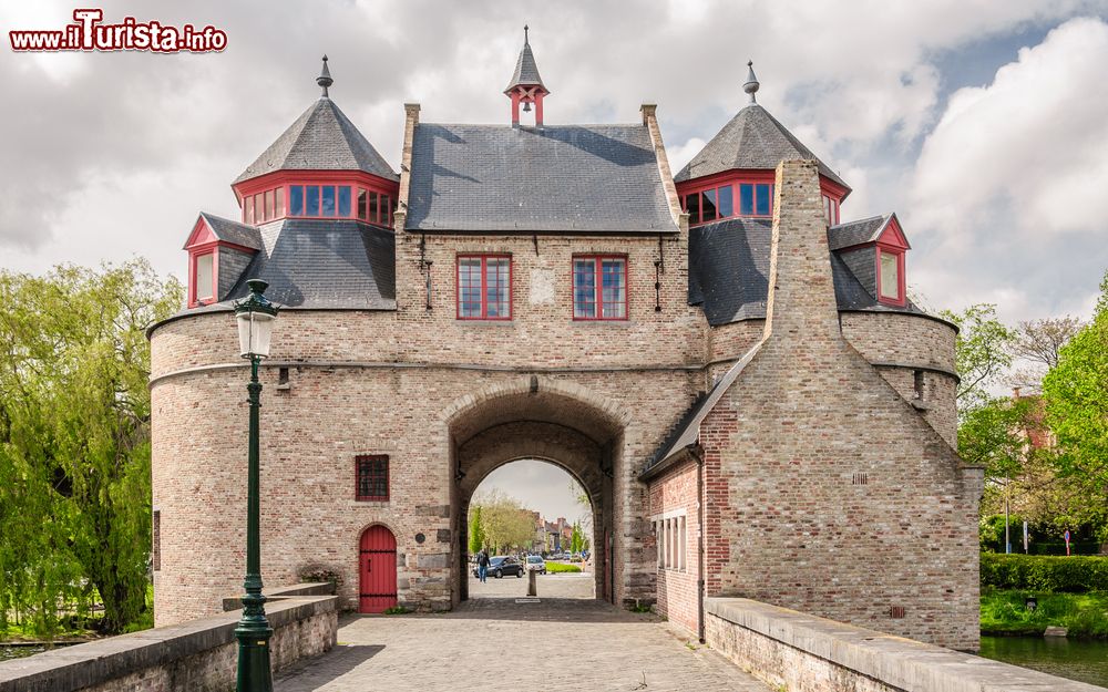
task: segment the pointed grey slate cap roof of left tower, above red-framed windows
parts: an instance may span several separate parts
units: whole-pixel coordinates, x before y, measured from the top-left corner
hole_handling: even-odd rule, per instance
[[[274,171],[362,171],[399,179],[369,140],[326,96],[296,118],[235,183]]]

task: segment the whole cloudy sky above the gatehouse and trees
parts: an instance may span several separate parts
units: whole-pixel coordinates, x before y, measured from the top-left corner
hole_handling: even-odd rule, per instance
[[[86,7],[91,3],[79,3]],[[0,6],[61,28],[72,3]],[[398,167],[406,101],[429,122],[509,121],[522,27],[550,123],[657,103],[675,169],[759,102],[851,184],[843,219],[895,210],[932,309],[1087,316],[1108,268],[1108,0],[103,2],[105,20],[212,24],[220,53],[0,50],[0,267],[133,255],[178,277],[199,210],[318,95]],[[567,514],[572,507],[552,508]]]

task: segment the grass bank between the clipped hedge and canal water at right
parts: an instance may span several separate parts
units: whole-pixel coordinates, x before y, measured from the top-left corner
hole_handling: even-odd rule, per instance
[[[1024,605],[1028,596],[1038,601],[1034,611]],[[1064,627],[1070,637],[1108,639],[1108,593],[982,590],[982,634],[1038,636],[1047,627]]]

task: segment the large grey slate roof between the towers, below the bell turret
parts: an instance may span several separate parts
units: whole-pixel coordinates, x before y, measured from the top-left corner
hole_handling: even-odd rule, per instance
[[[644,125],[420,123],[409,230],[676,233]]]

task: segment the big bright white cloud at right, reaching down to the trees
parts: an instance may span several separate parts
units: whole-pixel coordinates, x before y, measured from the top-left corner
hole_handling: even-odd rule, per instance
[[[1013,321],[1091,304],[1108,267],[1105,64],[1108,23],[1074,19],[950,97],[905,215],[934,303],[994,302]]]

